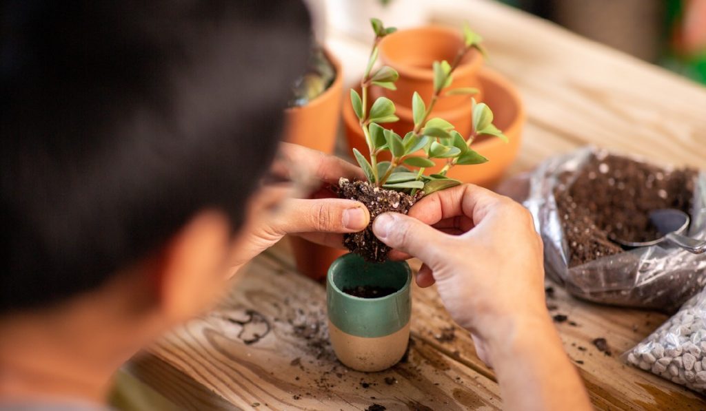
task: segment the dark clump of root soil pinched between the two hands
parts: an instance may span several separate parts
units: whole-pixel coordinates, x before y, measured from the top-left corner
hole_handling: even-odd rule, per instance
[[[367,181],[351,182],[347,178],[341,178],[338,185],[338,197],[357,200],[365,204],[370,211],[368,227],[358,233],[343,235],[343,245],[350,252],[360,254],[366,261],[384,262],[388,259],[390,247],[378,240],[373,234],[373,221],[376,216],[388,211],[407,214],[412,205],[421,198],[421,192],[412,197],[404,192],[373,187]]]

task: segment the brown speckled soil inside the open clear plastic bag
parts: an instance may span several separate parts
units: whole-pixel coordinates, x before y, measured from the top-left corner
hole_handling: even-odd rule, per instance
[[[623,252],[616,238],[659,238],[650,211],[674,208],[689,214],[697,173],[611,154],[593,156],[573,182],[567,173],[554,196],[570,249],[569,266]]]

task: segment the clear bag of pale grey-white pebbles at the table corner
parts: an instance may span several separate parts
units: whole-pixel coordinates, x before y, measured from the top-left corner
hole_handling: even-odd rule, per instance
[[[623,354],[629,364],[706,393],[706,289]]]

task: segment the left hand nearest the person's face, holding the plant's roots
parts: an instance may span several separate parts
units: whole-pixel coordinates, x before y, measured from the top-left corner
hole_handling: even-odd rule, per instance
[[[256,194],[249,207],[245,235],[234,247],[232,271],[287,234],[342,247],[342,233],[354,233],[368,226],[370,214],[362,203],[336,198],[329,189],[341,177],[364,179],[359,167],[313,149],[282,143],[271,174],[300,187],[273,184]],[[302,185],[306,188],[302,189]],[[297,189],[299,192],[295,192]]]

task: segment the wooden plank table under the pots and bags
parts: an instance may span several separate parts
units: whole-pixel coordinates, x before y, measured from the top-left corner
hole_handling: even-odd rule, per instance
[[[489,66],[525,99],[524,140],[510,173],[587,144],[706,165],[705,88],[505,6],[433,3],[434,23],[460,27],[468,20],[485,37]],[[347,79],[356,78],[368,46],[335,30],[329,36]],[[286,246],[278,245],[244,269],[218,309],[170,333],[133,360],[131,371],[190,410],[501,407],[493,372],[454,326],[436,290],[415,288],[413,295],[407,359],[386,372],[353,372],[328,344],[323,287],[299,276]],[[557,327],[597,408],[706,409],[698,395],[618,358],[659,326],[663,314],[592,305],[559,288],[550,302],[554,314],[575,321]],[[597,337],[606,338],[612,355],[592,345]]]

